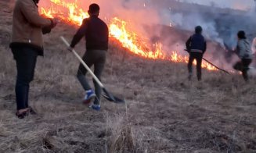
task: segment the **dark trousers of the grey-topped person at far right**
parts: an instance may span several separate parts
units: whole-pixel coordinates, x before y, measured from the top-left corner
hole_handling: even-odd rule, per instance
[[[236,65],[233,66],[234,69],[240,70],[243,73],[243,79],[245,81],[249,80],[247,72],[249,70],[249,66],[251,62],[252,62],[252,59],[242,59],[241,62],[236,62]]]

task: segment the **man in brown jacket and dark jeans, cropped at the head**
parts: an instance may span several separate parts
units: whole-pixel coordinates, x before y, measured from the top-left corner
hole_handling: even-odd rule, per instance
[[[13,35],[10,48],[16,60],[16,116],[23,119],[36,114],[28,105],[30,83],[38,55],[43,55],[43,37],[57,20],[46,19],[38,13],[39,0],[17,0],[13,11]]]

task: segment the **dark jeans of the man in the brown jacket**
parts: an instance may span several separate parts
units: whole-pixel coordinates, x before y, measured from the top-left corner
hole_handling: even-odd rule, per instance
[[[31,81],[34,79],[34,68],[38,51],[34,48],[12,48],[16,60],[16,105],[17,110],[28,108],[28,94]]]

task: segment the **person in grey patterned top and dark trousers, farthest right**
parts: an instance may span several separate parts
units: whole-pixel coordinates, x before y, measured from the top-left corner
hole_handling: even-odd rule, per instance
[[[249,80],[247,71],[249,70],[249,66],[254,58],[253,52],[251,50],[251,44],[247,41],[246,34],[243,30],[240,30],[237,33],[237,46],[236,46],[236,54],[240,58],[240,62],[236,62],[236,65],[233,66],[234,69],[240,70],[243,73],[243,79],[245,81]]]

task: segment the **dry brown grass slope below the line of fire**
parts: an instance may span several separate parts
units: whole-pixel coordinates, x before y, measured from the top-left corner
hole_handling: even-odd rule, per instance
[[[75,27],[64,23],[38,58],[30,94],[38,116],[17,119],[12,10],[0,6],[0,152],[256,152],[255,80],[204,70],[201,83],[189,82],[186,64],[140,59],[111,40],[103,83],[126,104],[103,99],[95,112],[81,104],[79,62],[59,39]],[[82,55],[84,43],[76,49]]]

